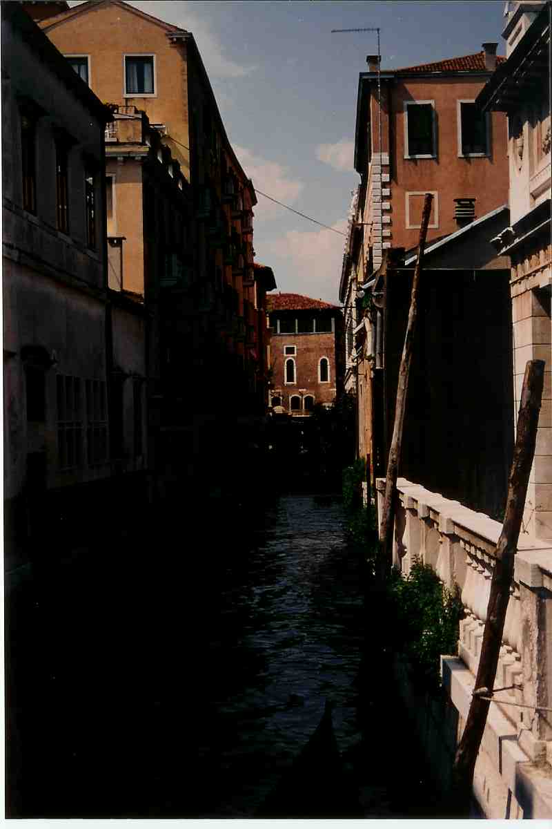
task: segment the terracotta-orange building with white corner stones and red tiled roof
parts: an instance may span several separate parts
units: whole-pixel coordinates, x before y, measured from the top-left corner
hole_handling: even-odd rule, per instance
[[[377,56],[368,56],[369,70],[359,76],[354,165],[361,183],[351,203],[339,284],[345,388],[358,395],[354,341],[366,324],[367,302],[374,322],[369,385],[380,398],[383,394],[383,312],[377,297],[365,298],[371,288],[363,286],[382,264],[384,251],[417,245],[425,192],[434,196],[428,244],[507,201],[505,119],[500,113],[479,117],[474,104],[503,60],[496,50],[496,43],[486,43],[474,55],[399,70],[381,69]],[[371,410],[369,401],[363,405]],[[358,424],[362,433],[361,416]],[[362,434],[359,440],[365,451]]]

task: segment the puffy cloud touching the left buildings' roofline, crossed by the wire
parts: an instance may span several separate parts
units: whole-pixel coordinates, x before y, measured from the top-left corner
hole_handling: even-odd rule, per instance
[[[258,187],[267,196],[285,204],[293,204],[303,189],[303,182],[290,178],[287,167],[275,161],[261,158],[245,147],[234,147],[234,152],[242,165],[246,175],[252,179],[254,187]],[[281,216],[283,207],[274,204],[272,201],[259,196],[258,204],[255,206],[255,220],[273,219]]]

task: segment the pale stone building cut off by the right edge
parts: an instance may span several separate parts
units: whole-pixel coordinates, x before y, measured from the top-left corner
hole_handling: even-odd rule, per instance
[[[506,114],[510,225],[494,238],[511,259],[515,406],[528,360],[546,361],[535,463],[524,525],[552,539],[552,393],[550,392],[550,3],[510,3],[502,36],[506,61],[482,92],[483,113]]]

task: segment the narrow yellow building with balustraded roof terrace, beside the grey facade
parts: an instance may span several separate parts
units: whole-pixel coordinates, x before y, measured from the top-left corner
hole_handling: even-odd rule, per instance
[[[183,463],[182,359],[192,332],[180,298],[194,283],[190,185],[144,112],[132,104],[111,109],[105,176],[111,453],[119,473],[142,473],[151,497],[150,485],[156,492],[168,468]],[[185,428],[191,432],[192,424]]]

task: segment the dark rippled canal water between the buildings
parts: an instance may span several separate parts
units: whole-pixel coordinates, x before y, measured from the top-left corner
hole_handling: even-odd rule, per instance
[[[341,504],[287,495],[247,534],[245,518],[175,521],[12,579],[12,817],[255,817],[326,700],[343,779],[303,817],[434,817]]]

